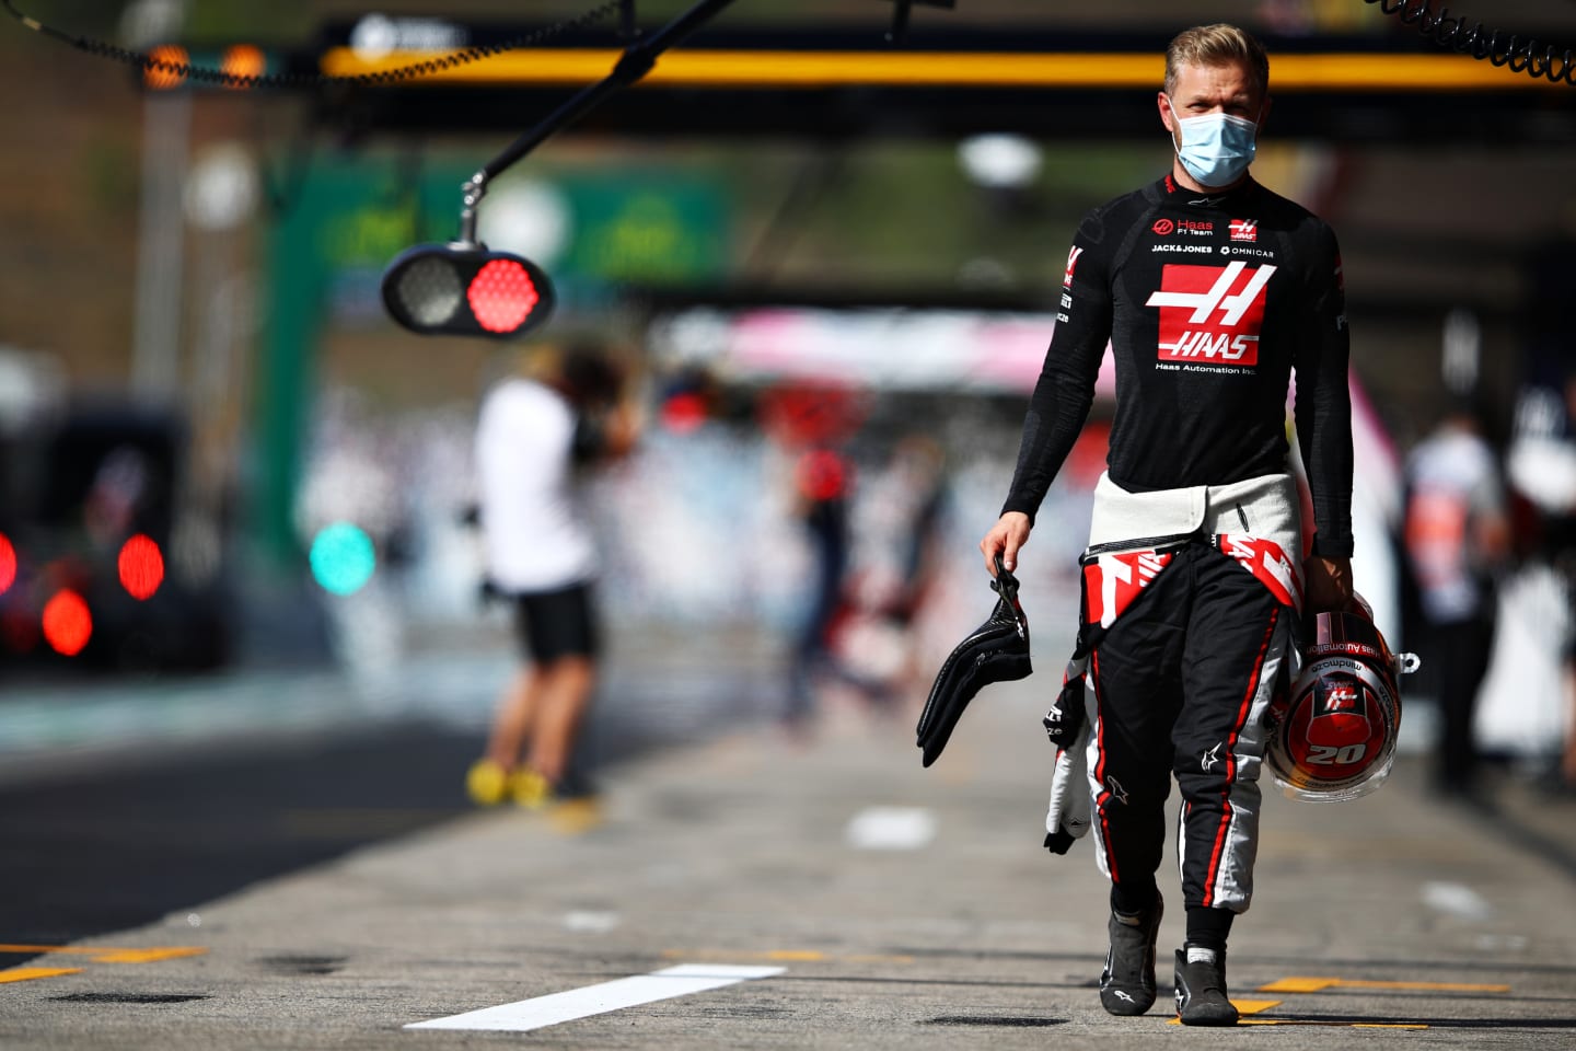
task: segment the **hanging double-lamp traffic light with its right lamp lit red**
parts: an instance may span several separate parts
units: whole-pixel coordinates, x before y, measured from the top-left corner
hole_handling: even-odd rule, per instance
[[[418,244],[383,274],[383,306],[421,336],[523,336],[547,321],[555,301],[541,266],[482,246]]]

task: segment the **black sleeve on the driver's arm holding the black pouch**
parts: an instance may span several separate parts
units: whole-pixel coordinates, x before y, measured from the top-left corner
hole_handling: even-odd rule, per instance
[[[1018,466],[1001,509],[1021,511],[1031,523],[1089,418],[1100,359],[1111,339],[1111,246],[1121,232],[1106,230],[1103,219],[1091,213],[1067,254],[1056,328],[1023,419]]]

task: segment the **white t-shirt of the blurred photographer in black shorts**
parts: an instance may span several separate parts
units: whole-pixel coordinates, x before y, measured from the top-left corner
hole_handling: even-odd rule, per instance
[[[489,578],[507,592],[555,591],[596,575],[596,547],[577,492],[575,414],[531,380],[482,399],[476,474]]]

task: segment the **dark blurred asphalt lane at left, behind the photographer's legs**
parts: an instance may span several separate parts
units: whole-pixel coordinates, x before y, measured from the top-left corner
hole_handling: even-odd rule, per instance
[[[54,678],[0,698],[0,945],[57,945],[473,811],[466,766],[514,668],[507,637],[342,671]],[[775,711],[750,633],[615,648],[577,758],[605,769]],[[637,681],[645,678],[659,681]],[[0,966],[28,953],[0,952]]]

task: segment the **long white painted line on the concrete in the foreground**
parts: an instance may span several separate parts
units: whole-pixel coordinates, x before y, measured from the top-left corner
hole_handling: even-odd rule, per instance
[[[583,990],[567,990],[515,1004],[484,1007],[465,1012],[463,1015],[418,1021],[405,1026],[405,1029],[495,1029],[525,1032],[526,1029],[556,1026],[575,1018],[605,1015],[624,1007],[667,1001],[675,996],[720,990],[727,985],[738,985],[752,979],[769,979],[783,971],[786,967],[731,967],[716,963],[686,963],[632,979],[588,985]]]

